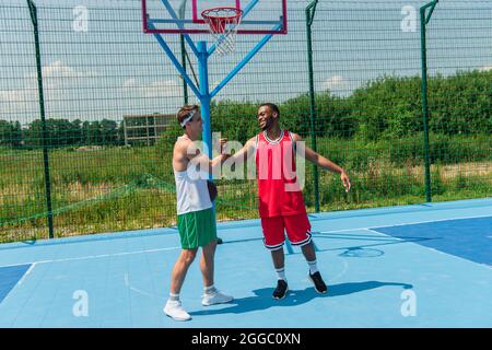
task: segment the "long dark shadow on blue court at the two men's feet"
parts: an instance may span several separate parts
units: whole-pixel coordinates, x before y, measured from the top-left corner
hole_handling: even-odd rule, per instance
[[[254,290],[255,296],[247,296],[242,299],[235,299],[226,305],[231,305],[230,307],[221,308],[221,310],[206,310],[206,311],[197,311],[190,312],[189,314],[192,316],[201,316],[201,315],[219,315],[219,314],[243,314],[255,311],[261,311],[269,307],[277,306],[296,306],[305,304],[317,298],[333,298],[333,296],[342,296],[352,293],[359,293],[366,290],[372,290],[380,287],[387,285],[399,285],[403,289],[413,288],[412,284],[407,283],[397,283],[397,282],[379,282],[379,281],[366,281],[366,282],[354,282],[354,283],[340,283],[340,284],[331,284],[328,285],[327,294],[318,294],[314,288],[309,287],[304,290],[291,290],[289,291],[288,296],[280,301],[274,300],[271,294],[273,293],[273,288],[262,288]]]

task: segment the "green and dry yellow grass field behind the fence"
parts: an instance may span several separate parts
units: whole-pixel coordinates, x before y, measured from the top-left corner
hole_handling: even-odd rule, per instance
[[[433,200],[490,197],[491,138],[459,137],[450,142],[440,137],[440,140],[446,147],[431,168]],[[347,195],[337,175],[320,171],[323,211],[424,201],[422,160],[415,151],[420,140],[382,140],[371,144],[321,138],[317,141],[319,153],[344,166],[353,185],[353,190]],[[306,142],[311,144],[309,140]],[[171,148],[160,144],[91,151],[51,150],[56,236],[174,225],[176,198]],[[437,152],[435,148],[434,152]],[[0,149],[0,242],[46,238],[42,152]],[[306,166],[304,194],[308,210],[314,211],[311,164]],[[219,182],[216,208],[218,219],[222,221],[257,218],[255,182]]]

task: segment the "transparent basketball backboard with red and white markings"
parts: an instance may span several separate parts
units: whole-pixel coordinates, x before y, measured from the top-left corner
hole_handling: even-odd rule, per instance
[[[237,34],[286,34],[286,0],[141,0],[143,32],[209,33],[201,13],[212,8],[243,11]]]

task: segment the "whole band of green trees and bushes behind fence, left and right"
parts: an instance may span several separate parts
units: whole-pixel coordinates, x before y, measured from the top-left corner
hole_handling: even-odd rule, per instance
[[[383,77],[356,89],[350,96],[336,96],[326,91],[316,94],[315,100],[317,136],[371,142],[413,137],[423,130],[419,77]],[[276,103],[268,101],[268,97],[263,102]],[[212,103],[212,130],[221,131],[230,140],[245,142],[258,132],[258,104],[231,101]],[[280,108],[285,128],[303,137],[311,135],[307,94],[280,104]],[[433,133],[449,137],[492,135],[492,70],[431,78],[429,110],[429,126]],[[50,147],[116,145],[122,144],[125,140],[122,122],[118,125],[114,120],[47,119],[46,125],[47,143]],[[179,130],[171,128],[166,136],[175,132]],[[40,120],[33,121],[27,128],[21,128],[19,121],[0,120],[0,145],[39,147],[42,136]]]

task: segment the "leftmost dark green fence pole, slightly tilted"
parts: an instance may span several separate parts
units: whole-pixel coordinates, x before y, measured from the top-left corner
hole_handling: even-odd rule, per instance
[[[45,119],[45,98],[43,93],[43,69],[40,62],[37,9],[32,0],[27,0],[27,5],[30,8],[31,21],[33,22],[34,26],[34,43],[36,47],[36,67],[37,67],[37,90],[39,94],[39,113],[43,128],[43,161],[45,168],[46,206],[48,210],[47,219],[48,219],[49,238],[52,238],[55,234],[54,234],[52,208],[51,208],[51,182],[49,179],[49,154],[47,148],[48,131],[46,128],[46,119]]]

